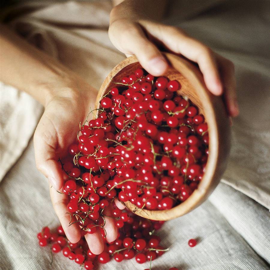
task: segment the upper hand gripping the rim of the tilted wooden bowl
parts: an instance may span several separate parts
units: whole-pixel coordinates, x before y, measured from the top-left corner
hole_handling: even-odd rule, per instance
[[[233,63],[182,29],[146,19],[119,18],[115,7],[111,12],[109,37],[121,52],[136,55],[143,68],[154,76],[163,75],[168,67],[159,47],[196,62],[208,90],[214,95],[223,94],[229,116],[238,115]]]

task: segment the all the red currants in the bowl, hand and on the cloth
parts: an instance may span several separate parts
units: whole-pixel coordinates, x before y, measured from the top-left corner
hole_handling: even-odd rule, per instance
[[[76,216],[82,236],[101,230],[105,249],[98,262],[135,256],[143,263],[166,251],[153,234],[164,222],[114,205],[112,217],[119,233],[116,241],[107,243],[104,209],[115,198],[146,210],[168,210],[184,202],[205,171],[208,127],[199,109],[177,95],[181,85],[176,80],[137,69],[114,86],[91,111],[95,119],[80,125],[78,142],[69,147],[69,155],[59,160],[67,178],[62,193],[69,196],[67,210]],[[44,233],[38,235],[41,246],[50,239],[53,252],[62,250],[86,269],[94,267],[96,256],[83,238],[71,244],[59,229],[61,241]]]

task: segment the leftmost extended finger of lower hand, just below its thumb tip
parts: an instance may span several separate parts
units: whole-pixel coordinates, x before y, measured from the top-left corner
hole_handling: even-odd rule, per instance
[[[64,232],[67,236],[67,239],[71,243],[77,243],[80,238],[80,228],[77,223],[74,223],[69,226],[72,222],[76,221],[76,219],[72,216],[70,222],[70,214],[67,214],[67,203],[68,197],[67,195],[58,193],[55,189],[50,188],[50,195],[52,200],[52,206],[56,215],[58,216],[60,223],[64,229]]]

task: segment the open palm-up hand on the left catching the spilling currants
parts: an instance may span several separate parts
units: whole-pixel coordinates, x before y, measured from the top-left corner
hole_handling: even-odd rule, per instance
[[[61,190],[66,176],[58,159],[67,154],[68,146],[76,140],[79,122],[83,123],[90,108],[94,108],[97,92],[79,78],[70,79],[68,86],[59,87],[52,92],[57,94],[46,102],[44,114],[35,131],[35,159],[38,170],[49,180],[53,208],[64,232],[70,242],[76,243],[81,237],[79,225],[73,223],[76,221],[73,216],[70,222],[71,215],[67,211],[68,196],[57,191]],[[110,209],[106,211],[106,215],[110,216]],[[114,220],[110,217],[105,219],[107,240],[114,241],[117,237]],[[69,225],[70,223],[73,224]],[[99,230],[85,235],[85,238],[93,253],[99,254],[103,251]]]

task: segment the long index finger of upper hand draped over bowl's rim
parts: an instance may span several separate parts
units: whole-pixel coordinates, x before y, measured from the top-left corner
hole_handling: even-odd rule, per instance
[[[143,25],[167,49],[182,54],[191,61],[198,63],[208,90],[214,95],[222,94],[222,82],[214,53],[211,49],[175,27],[158,27],[153,22],[146,22]]]

